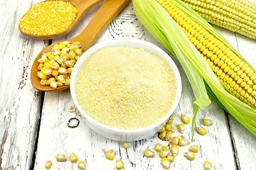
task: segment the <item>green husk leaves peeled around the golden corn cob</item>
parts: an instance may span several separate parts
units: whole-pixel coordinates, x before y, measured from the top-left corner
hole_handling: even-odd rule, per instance
[[[240,124],[256,136],[256,110],[240,101],[233,94],[230,94],[228,89],[226,89],[215,76],[200,52],[198,52],[192,42],[188,40],[183,30],[181,30],[174,19],[169,16],[169,13],[155,0],[132,0],[132,2],[134,12],[137,18],[139,18],[139,21],[142,22],[145,28],[149,30],[149,33],[151,33],[161,45],[166,47],[166,49],[177,58],[191,83],[193,93],[196,97],[196,101],[193,102],[194,118],[192,124],[195,124],[198,108],[204,109],[210,104],[210,98],[208,97],[208,94],[210,94],[225,111],[233,115]],[[207,21],[199,16],[198,13],[186,6],[181,0],[171,0],[171,2],[186,13],[187,16],[191,17],[193,21],[196,21],[203,26],[203,28],[206,28],[210,34],[222,41],[227,47],[233,50],[243,62],[251,67],[228,41],[210,26]],[[255,72],[253,67],[251,67],[251,69]]]

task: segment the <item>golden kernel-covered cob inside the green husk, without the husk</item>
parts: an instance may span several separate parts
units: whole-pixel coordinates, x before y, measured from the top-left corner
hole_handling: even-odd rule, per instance
[[[156,0],[174,18],[220,81],[240,101],[256,107],[256,73],[235,53],[169,0]]]

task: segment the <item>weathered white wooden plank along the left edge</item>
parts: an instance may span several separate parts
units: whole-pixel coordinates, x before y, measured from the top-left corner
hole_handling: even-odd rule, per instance
[[[18,22],[35,1],[0,1],[0,169],[30,169],[41,113],[41,93],[29,74],[43,40],[21,35]]]

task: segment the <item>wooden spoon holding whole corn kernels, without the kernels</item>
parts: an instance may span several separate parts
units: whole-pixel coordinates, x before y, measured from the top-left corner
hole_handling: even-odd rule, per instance
[[[117,14],[122,11],[124,6],[129,3],[130,0],[107,0],[104,4],[99,8],[99,10],[95,13],[90,23],[87,25],[85,30],[82,31],[79,35],[75,38],[71,38],[68,40],[69,42],[79,41],[80,45],[84,51],[92,46],[92,42],[95,40],[97,35],[107,26],[112,19],[114,19]],[[38,89],[39,91],[60,91],[64,89],[68,89],[69,86],[61,86],[57,87],[56,89],[51,88],[50,86],[42,86],[40,84],[40,80],[37,76],[38,72],[38,60],[41,58],[43,53],[50,52],[53,45],[60,43],[55,42],[52,45],[44,48],[41,52],[39,52],[38,56],[36,57],[33,65],[31,67],[31,83],[33,86]]]

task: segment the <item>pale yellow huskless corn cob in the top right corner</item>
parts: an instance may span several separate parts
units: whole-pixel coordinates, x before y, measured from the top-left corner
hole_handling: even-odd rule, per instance
[[[256,40],[256,5],[247,0],[182,0],[209,23]]]

